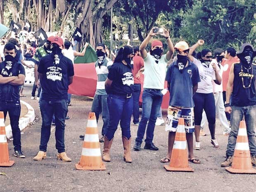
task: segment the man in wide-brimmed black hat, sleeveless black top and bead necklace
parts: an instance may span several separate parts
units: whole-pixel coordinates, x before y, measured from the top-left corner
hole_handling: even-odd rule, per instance
[[[256,49],[250,43],[244,43],[241,50],[237,52],[240,62],[233,64],[230,68],[225,111],[231,114],[231,131],[228,136],[226,159],[221,164],[222,167],[232,164],[239,123],[243,117],[247,128],[251,164],[256,165],[256,138],[254,129],[256,123],[256,64],[252,64],[255,56]],[[229,103],[231,92],[232,100]]]

